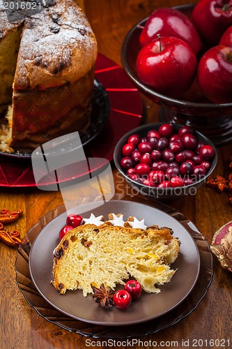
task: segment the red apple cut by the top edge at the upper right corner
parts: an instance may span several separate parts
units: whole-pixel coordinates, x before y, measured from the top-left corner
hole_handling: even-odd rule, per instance
[[[232,0],[201,0],[192,11],[192,21],[205,43],[218,45],[232,25]]]

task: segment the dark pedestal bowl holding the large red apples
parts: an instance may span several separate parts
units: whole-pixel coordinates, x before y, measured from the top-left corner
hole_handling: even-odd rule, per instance
[[[194,5],[176,6],[175,8],[191,18]],[[215,104],[208,101],[200,91],[196,78],[190,90],[181,99],[170,98],[159,94],[141,82],[137,74],[136,59],[141,49],[139,36],[147,19],[136,24],[123,41],[121,58],[123,68],[130,80],[132,80],[142,94],[162,106],[160,110],[160,121],[190,125],[207,135],[216,145],[231,142],[232,103]],[[206,45],[203,45],[197,58],[199,59],[208,48]]]

